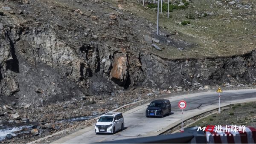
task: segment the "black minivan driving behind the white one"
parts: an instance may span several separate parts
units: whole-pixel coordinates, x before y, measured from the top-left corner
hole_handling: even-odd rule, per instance
[[[171,114],[171,103],[166,99],[152,101],[146,109],[147,118],[151,116],[163,118],[166,114]]]

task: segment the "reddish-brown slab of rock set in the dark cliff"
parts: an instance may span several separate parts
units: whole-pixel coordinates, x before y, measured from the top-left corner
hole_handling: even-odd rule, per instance
[[[115,56],[110,72],[111,80],[116,84],[125,85],[128,77],[127,55]]]

